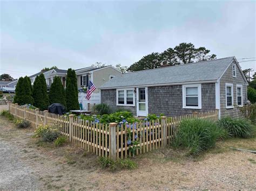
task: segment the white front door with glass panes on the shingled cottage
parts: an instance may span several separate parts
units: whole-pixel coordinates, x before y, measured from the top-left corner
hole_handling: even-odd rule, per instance
[[[137,116],[147,116],[147,88],[137,88]]]

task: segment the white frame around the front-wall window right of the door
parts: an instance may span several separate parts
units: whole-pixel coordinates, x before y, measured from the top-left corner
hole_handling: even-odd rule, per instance
[[[197,87],[198,90],[198,106],[186,106],[186,88]],[[182,85],[183,108],[185,109],[202,109],[201,84],[185,84]]]

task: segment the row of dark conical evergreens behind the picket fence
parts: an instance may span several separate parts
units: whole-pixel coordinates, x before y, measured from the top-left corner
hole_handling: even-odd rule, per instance
[[[44,74],[36,77],[33,86],[28,76],[20,77],[14,97],[14,103],[31,104],[40,110],[46,110],[52,103],[61,103],[67,111],[79,109],[77,77],[75,70],[69,68],[66,76],[66,89],[60,77],[55,76],[47,94],[47,84]]]

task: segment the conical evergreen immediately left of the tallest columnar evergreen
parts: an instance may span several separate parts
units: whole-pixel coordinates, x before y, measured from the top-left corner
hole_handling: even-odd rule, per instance
[[[62,86],[62,81],[60,77],[55,76],[53,82],[50,87],[49,92],[49,102],[52,103],[60,103],[66,107],[66,96],[65,96],[65,89]]]

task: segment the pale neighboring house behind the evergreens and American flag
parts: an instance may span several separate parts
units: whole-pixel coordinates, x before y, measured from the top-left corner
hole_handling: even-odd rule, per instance
[[[66,87],[66,73],[68,70],[64,69],[51,69],[46,72],[39,72],[37,74],[34,74],[30,77],[31,83],[35,82],[36,76],[40,75],[41,73],[44,74],[46,84],[48,86],[48,89],[51,86],[51,83],[53,82],[53,79],[55,76],[59,76],[62,80],[62,84],[64,87]],[[76,75],[77,75],[77,88],[80,89],[81,87],[88,87],[89,81],[91,80],[93,84],[96,86],[96,90],[91,95],[90,101],[86,100],[86,94],[85,93],[79,93],[78,94],[78,101],[79,103],[82,103],[83,109],[87,110],[88,103],[90,104],[98,104],[100,103],[100,93],[99,93],[99,87],[102,86],[105,82],[112,79],[114,76],[122,74],[117,68],[114,68],[113,66],[105,66],[101,68],[95,68],[95,67],[85,67],[76,69]]]

